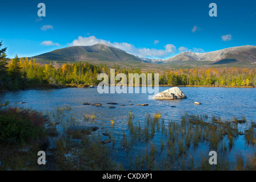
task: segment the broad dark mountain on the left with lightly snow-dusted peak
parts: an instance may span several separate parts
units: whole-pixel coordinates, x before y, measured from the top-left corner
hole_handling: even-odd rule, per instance
[[[37,61],[111,61],[134,63],[143,59],[127,53],[121,49],[111,47],[105,43],[94,44],[93,46],[72,46],[57,49],[42,55],[33,57]]]

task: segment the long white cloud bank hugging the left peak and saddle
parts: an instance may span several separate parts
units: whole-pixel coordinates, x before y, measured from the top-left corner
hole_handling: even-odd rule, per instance
[[[129,43],[125,43],[125,42],[111,43],[109,40],[98,39],[95,36],[89,36],[89,37],[79,36],[78,39],[75,39],[72,43],[69,44],[69,46],[92,46],[92,45],[100,43],[100,42],[109,44],[110,46],[122,49],[126,52],[133,53],[134,55],[137,55],[140,57],[164,58],[166,56],[170,56],[171,54],[175,53],[175,51],[176,51],[176,47],[173,44],[167,44],[165,46],[165,49],[136,48],[133,44],[129,44]]]

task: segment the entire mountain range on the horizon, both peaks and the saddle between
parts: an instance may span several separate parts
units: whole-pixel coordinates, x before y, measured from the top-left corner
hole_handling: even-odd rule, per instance
[[[207,67],[207,66],[239,66],[256,67],[256,46],[240,46],[218,51],[195,53],[182,52],[168,59],[147,59],[112,47],[105,43],[93,46],[72,46],[56,49],[42,55],[32,57],[37,61],[89,61],[91,63],[111,63],[130,65],[165,65]],[[141,64],[143,63],[143,64]]]

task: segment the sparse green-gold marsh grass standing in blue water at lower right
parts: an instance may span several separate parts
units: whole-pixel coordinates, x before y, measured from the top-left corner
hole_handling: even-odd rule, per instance
[[[243,118],[243,120],[246,119]],[[220,117],[216,119],[212,116],[209,119],[207,115],[188,115],[186,113],[182,115],[181,122],[165,122],[161,118],[161,114],[156,113],[146,115],[144,126],[140,130],[138,129],[139,125],[141,122],[136,121],[134,115],[129,113],[127,122],[129,133],[126,135],[123,132],[125,148],[130,148],[127,154],[134,156],[131,145],[139,142],[146,143],[150,148],[139,154],[139,157],[134,157],[137,161],[135,162],[136,165],[132,165],[133,169],[243,170],[246,169],[246,165],[250,167],[253,165],[250,164],[250,161],[245,161],[242,165],[242,159],[245,155],[236,157],[237,160],[235,161],[229,161],[228,158],[229,152],[233,150],[239,137],[238,126],[244,124],[225,122]],[[252,123],[245,133],[245,142],[248,141],[253,144],[256,137],[255,133],[255,125]],[[161,137],[158,148],[151,142],[155,135]],[[201,146],[207,147],[209,151],[217,151],[218,165],[211,166],[209,164],[207,152],[205,157],[197,156],[197,160],[194,160],[193,154],[195,151],[201,150]],[[130,158],[134,160],[131,156]],[[138,158],[141,158],[140,163]],[[131,164],[134,164],[134,161]]]

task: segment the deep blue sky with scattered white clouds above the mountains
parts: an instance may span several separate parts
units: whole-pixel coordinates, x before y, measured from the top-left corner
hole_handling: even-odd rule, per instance
[[[39,18],[38,3],[46,17]],[[209,16],[210,3],[217,17]],[[8,57],[105,42],[135,55],[166,58],[256,46],[256,1],[3,1],[0,40]]]

